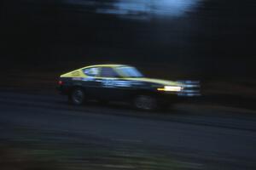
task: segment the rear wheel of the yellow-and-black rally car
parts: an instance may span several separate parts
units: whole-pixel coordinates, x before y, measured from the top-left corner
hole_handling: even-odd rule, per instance
[[[68,100],[73,105],[83,105],[84,104],[84,90],[82,88],[73,88],[68,96]]]

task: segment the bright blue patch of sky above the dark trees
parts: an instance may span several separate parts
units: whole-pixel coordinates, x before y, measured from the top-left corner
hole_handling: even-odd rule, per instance
[[[65,3],[92,6],[96,1],[65,0]],[[199,0],[117,0],[104,2],[96,12],[100,14],[116,14],[119,16],[180,16],[189,10],[193,10]]]

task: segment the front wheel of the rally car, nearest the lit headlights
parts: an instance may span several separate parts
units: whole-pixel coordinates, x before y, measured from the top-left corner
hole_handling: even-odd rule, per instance
[[[159,106],[157,99],[146,94],[137,95],[137,97],[133,100],[133,105],[136,109],[141,111],[155,111]]]

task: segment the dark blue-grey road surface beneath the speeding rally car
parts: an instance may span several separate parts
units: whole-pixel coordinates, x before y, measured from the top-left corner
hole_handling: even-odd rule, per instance
[[[147,113],[125,105],[77,107],[57,94],[2,91],[0,112],[2,141],[44,133],[45,140],[90,140],[111,144],[113,150],[147,146],[198,169],[256,169],[255,111],[179,104],[164,113]]]

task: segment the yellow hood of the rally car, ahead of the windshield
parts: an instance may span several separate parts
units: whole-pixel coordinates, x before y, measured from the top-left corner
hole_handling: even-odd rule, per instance
[[[125,78],[126,80],[133,80],[133,81],[140,81],[140,82],[151,82],[156,83],[164,86],[180,86],[182,85],[180,82],[168,81],[168,80],[161,80],[161,79],[154,79],[154,78],[145,78],[145,77],[138,77],[138,78]]]

